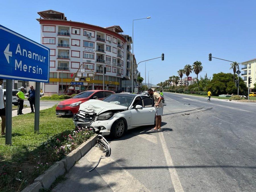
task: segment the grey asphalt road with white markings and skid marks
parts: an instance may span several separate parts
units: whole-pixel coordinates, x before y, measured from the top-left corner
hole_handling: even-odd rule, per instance
[[[53,191],[255,191],[256,103],[164,93],[164,131],[139,127],[95,146]],[[75,186],[75,187],[74,187]]]

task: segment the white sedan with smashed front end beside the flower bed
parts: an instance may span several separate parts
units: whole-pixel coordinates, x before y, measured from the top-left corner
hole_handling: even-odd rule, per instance
[[[111,134],[114,138],[120,138],[129,129],[154,125],[155,107],[152,97],[117,93],[102,101],[82,103],[73,120],[75,126],[87,126],[102,136]]]

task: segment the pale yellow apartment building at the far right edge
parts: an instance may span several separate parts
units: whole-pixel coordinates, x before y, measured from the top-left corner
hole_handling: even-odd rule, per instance
[[[249,61],[245,61],[241,63],[241,78],[246,83],[248,87],[248,77],[251,77],[251,84],[249,87],[250,92],[254,88],[254,83],[256,82],[256,59],[251,59]]]

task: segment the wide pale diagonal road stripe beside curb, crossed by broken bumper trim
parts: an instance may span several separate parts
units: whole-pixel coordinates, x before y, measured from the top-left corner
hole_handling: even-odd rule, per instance
[[[94,147],[87,160],[95,166],[101,155],[102,150]],[[150,191],[111,157],[102,159],[95,170],[113,191]]]

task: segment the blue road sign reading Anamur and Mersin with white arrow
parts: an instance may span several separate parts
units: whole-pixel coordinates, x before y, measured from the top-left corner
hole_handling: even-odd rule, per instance
[[[50,49],[0,25],[0,77],[49,82]]]

